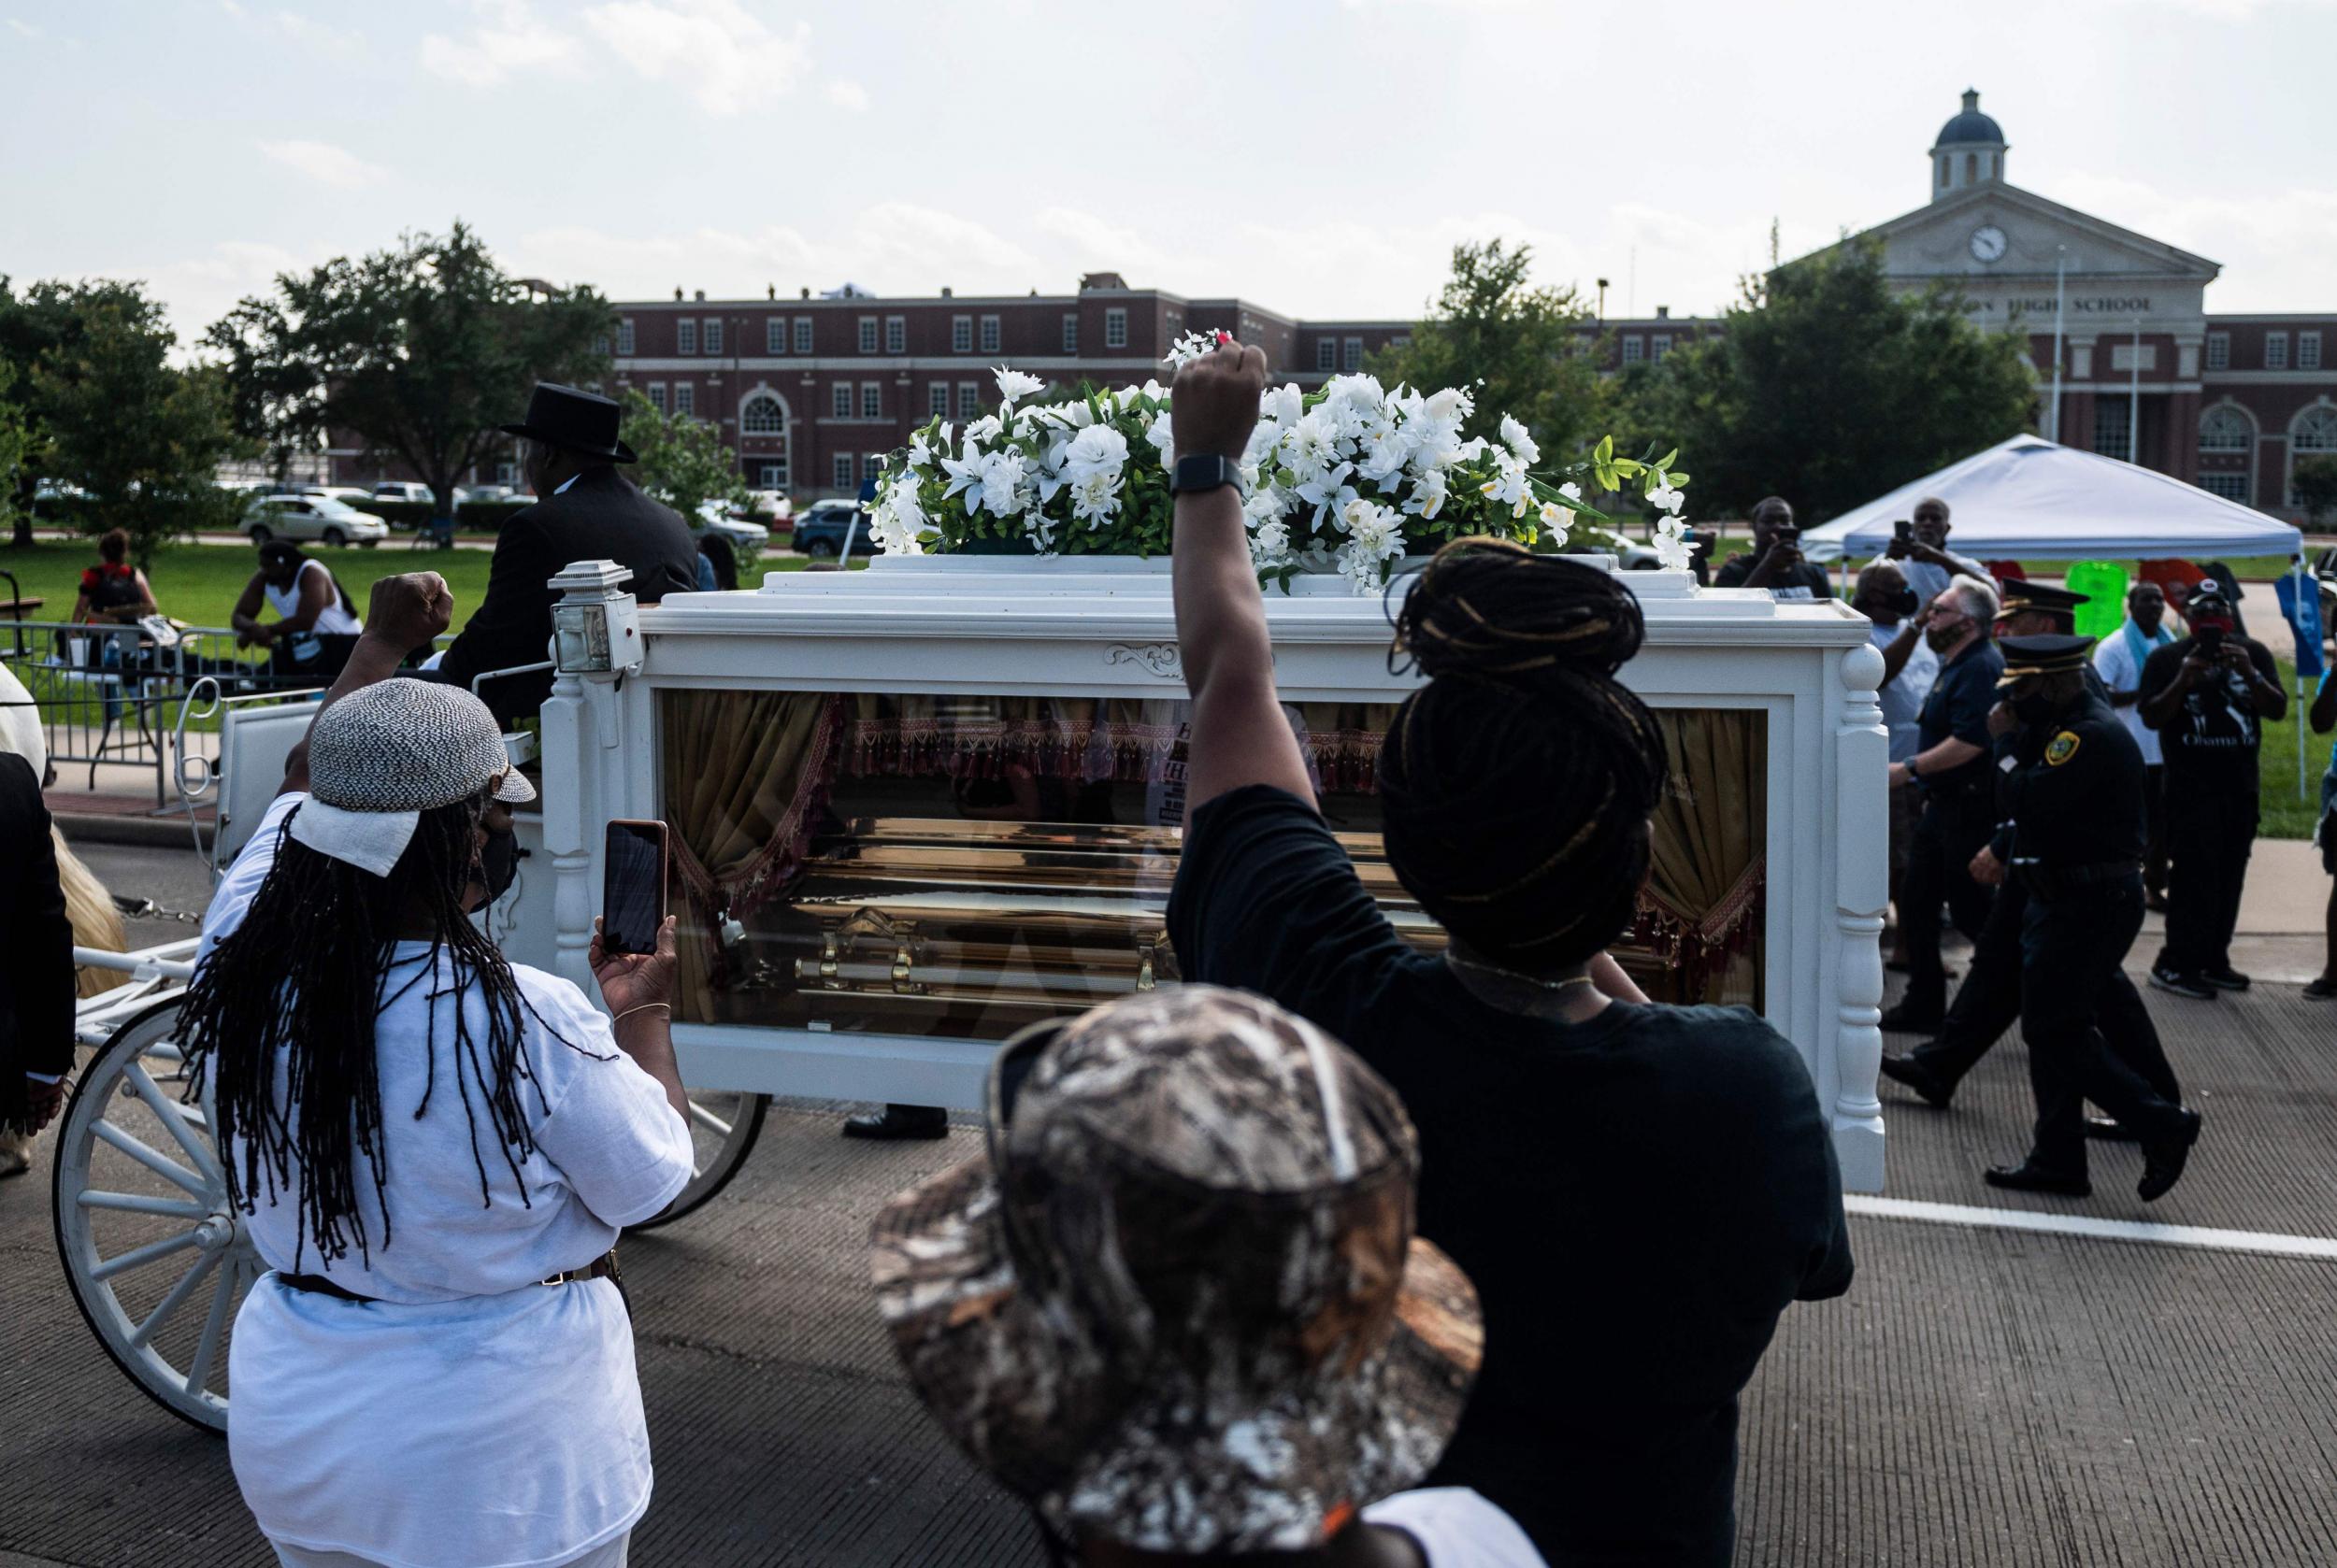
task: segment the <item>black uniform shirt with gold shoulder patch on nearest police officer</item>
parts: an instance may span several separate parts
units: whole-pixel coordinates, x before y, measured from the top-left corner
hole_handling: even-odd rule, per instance
[[[2024,724],[2007,776],[2014,865],[2075,869],[2143,858],[2143,748],[2094,694]]]

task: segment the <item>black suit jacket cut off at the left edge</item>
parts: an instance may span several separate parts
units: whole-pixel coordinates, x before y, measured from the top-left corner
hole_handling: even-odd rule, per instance
[[[23,1075],[72,1070],[72,921],[33,764],[0,752],[0,1124],[23,1117]]]

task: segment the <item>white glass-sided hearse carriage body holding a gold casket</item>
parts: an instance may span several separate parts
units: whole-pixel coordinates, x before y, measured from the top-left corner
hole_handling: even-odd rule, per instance
[[[633,610],[580,563],[542,710],[542,818],[505,949],[591,993],[601,823],[664,818],[694,1089],[977,1105],[1038,1017],[1176,981],[1183,820],[1166,561],[886,556]],[[1842,603],[1631,573],[1624,680],[1673,788],[1617,958],[1659,1000],[1757,1007],[1809,1061],[1844,1182],[1877,1192],[1886,902],[1881,657]],[[1388,612],[1339,580],[1269,594],[1276,680],[1325,816],[1423,946],[1379,858]],[[596,643],[603,638],[605,647]],[[608,666],[584,668],[577,666]],[[1650,1129],[1650,1143],[1662,1129]]]

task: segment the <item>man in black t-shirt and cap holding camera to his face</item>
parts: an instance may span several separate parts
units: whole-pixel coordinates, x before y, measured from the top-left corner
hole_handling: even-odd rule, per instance
[[[2192,589],[2185,619],[2187,638],[2143,659],[2138,703],[2166,757],[2166,946],[2150,984],[2204,1002],[2248,988],[2232,932],[2255,848],[2255,757],[2265,720],[2288,715],[2288,692],[2213,580]]]

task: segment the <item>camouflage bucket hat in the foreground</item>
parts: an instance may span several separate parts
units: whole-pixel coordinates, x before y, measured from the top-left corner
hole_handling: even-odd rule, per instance
[[[1484,1351],[1416,1173],[1346,1047],[1178,986],[1007,1042],[989,1150],[876,1217],[876,1302],[932,1416],[1059,1533],[1316,1547],[1435,1465]]]

